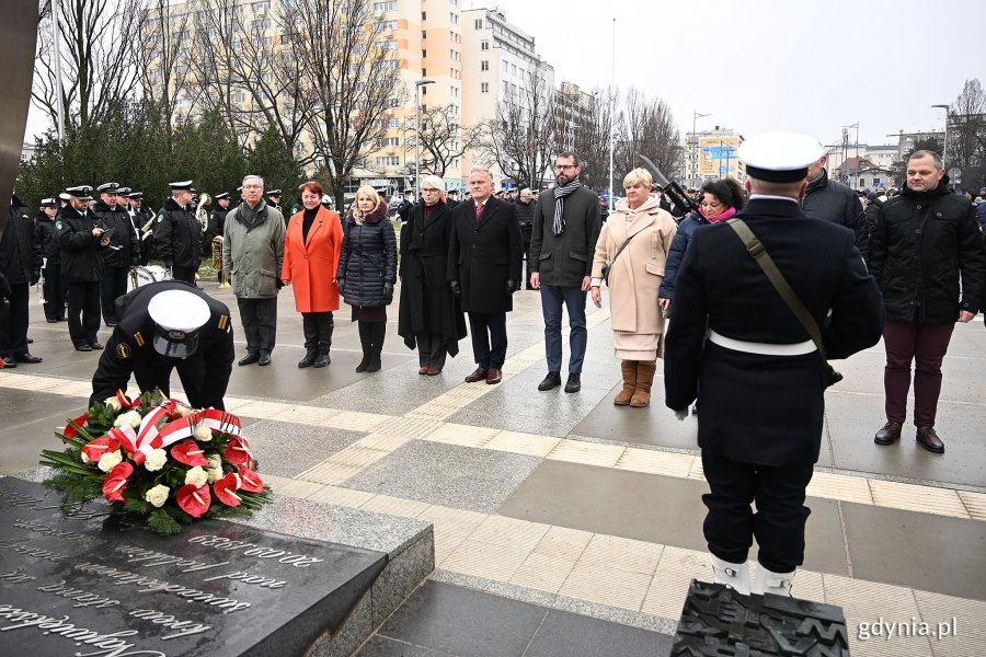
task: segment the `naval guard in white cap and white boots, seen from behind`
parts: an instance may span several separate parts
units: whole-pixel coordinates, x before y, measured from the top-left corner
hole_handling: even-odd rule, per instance
[[[799,205],[822,147],[804,135],[768,132],[744,142],[738,155],[750,197],[736,217],[821,326],[825,355],[847,358],[876,344],[883,306],[856,235],[809,218]],[[790,596],[804,558],[805,487],[832,382],[825,360],[731,226],[695,232],[672,306],[666,403],[683,418],[701,391],[698,441],[710,488],[703,529],[715,581],[742,593]]]

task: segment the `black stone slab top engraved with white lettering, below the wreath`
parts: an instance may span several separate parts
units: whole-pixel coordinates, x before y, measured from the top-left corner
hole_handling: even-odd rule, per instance
[[[220,520],[162,538],[58,503],[0,480],[0,655],[300,655],[387,558]]]

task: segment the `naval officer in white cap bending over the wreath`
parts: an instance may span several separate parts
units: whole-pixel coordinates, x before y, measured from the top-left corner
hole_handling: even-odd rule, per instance
[[[162,280],[121,297],[117,306],[119,325],[92,378],[90,405],[126,390],[131,373],[141,392],[160,388],[169,395],[177,369],[193,407],[225,410],[236,354],[225,303],[192,284]]]

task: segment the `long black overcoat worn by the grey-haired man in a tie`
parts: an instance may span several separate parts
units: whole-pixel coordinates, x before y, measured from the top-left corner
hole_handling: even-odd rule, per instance
[[[462,310],[478,313],[509,312],[513,295],[506,281],[520,283],[524,247],[514,206],[491,196],[480,220],[475,203],[460,203],[452,210],[448,247],[448,280],[462,287]]]

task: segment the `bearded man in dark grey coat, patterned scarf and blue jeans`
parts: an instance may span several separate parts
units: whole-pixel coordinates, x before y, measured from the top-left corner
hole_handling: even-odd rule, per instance
[[[548,354],[548,376],[538,385],[540,391],[561,385],[562,303],[569,311],[572,328],[565,392],[578,392],[582,388],[582,361],[588,341],[585,293],[592,283],[592,255],[603,220],[599,196],[582,186],[580,173],[582,166],[575,153],[559,153],[554,162],[555,186],[548,198],[537,204],[534,212],[527,266],[531,272],[531,287],[541,290]]]

